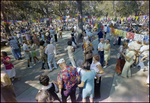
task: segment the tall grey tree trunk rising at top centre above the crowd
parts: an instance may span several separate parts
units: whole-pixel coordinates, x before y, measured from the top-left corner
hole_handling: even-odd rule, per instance
[[[82,16],[82,1],[76,1],[76,2],[77,2],[78,14]],[[83,21],[79,16],[78,16],[78,27],[79,27],[78,38],[80,38],[83,31]]]

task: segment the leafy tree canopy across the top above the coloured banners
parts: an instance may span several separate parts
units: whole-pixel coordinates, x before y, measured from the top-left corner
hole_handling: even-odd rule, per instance
[[[56,18],[78,13],[77,1],[1,1],[1,20]],[[149,13],[149,1],[82,1],[82,15],[127,16]]]

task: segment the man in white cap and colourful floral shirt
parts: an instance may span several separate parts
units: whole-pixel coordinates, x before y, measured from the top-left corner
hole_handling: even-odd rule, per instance
[[[76,102],[76,87],[80,81],[80,76],[76,68],[66,65],[64,58],[58,60],[57,64],[62,69],[57,76],[57,83],[61,89],[62,102],[67,101],[70,96],[72,102]]]

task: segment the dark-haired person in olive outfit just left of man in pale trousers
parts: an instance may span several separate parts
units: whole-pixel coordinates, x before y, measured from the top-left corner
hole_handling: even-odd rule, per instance
[[[40,58],[42,60],[42,68],[41,69],[45,69],[44,64],[47,63],[47,55],[45,54],[45,46],[44,46],[43,40],[40,41]],[[48,63],[47,63],[47,67],[49,69]]]

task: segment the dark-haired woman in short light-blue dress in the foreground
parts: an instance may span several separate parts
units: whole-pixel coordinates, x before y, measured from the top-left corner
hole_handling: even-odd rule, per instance
[[[90,70],[90,63],[85,62],[83,65],[84,70],[86,71],[82,78],[81,83],[78,87],[83,87],[82,90],[82,102],[86,102],[86,98],[89,97],[90,102],[93,102],[94,97],[94,78],[97,77],[97,83],[99,83],[99,76],[95,70]]]

